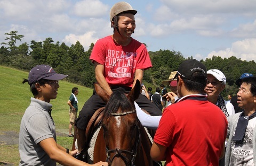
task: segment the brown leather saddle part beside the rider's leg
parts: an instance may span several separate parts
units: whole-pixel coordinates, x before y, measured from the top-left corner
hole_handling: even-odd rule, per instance
[[[96,110],[94,112],[93,116],[91,117],[91,119],[89,120],[89,123],[86,127],[86,132],[85,132],[87,144],[90,142],[90,140],[93,136],[94,130],[100,126],[104,109],[105,109],[105,107],[102,107],[102,108],[99,108],[98,110]]]

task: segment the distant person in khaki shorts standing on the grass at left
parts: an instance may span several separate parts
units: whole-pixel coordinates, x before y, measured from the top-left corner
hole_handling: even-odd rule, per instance
[[[78,110],[78,106],[77,106],[77,98],[76,95],[78,94],[78,88],[74,87],[72,89],[72,93],[69,97],[68,100],[68,106],[69,106],[69,126],[68,126],[68,136],[69,137],[74,137],[74,135],[72,134],[72,128],[73,125],[75,123],[75,120],[77,118],[77,110]]]

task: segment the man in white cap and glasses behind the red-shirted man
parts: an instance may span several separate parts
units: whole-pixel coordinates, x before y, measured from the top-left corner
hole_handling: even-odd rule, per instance
[[[235,109],[233,104],[225,101],[220,93],[225,89],[226,77],[218,69],[210,69],[207,71],[207,82],[205,86],[205,92],[208,95],[208,101],[218,106],[222,112],[225,114],[226,118],[235,114]],[[225,147],[227,142],[225,142]],[[219,161],[219,165],[224,165],[225,158]]]

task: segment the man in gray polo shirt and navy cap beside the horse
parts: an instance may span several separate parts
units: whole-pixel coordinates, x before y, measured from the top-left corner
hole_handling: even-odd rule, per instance
[[[19,165],[90,165],[76,160],[77,153],[69,151],[56,143],[55,124],[51,116],[52,104],[50,101],[57,98],[59,80],[67,75],[58,74],[48,65],[38,65],[31,69],[28,79],[31,98],[20,124],[19,135]],[[108,165],[99,162],[94,165]]]

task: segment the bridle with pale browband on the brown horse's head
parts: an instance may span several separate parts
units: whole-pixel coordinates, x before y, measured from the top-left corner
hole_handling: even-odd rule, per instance
[[[110,115],[123,116],[123,115],[127,115],[129,113],[134,113],[134,112],[136,112],[136,110],[121,112],[121,113],[110,113]],[[137,121],[139,121],[138,118],[137,118]],[[137,147],[138,147],[139,139],[140,139],[140,126],[139,126],[139,124],[137,124],[136,126],[137,126],[137,133],[136,133],[136,138],[135,138],[136,143],[134,144],[132,151],[122,150],[122,149],[118,149],[118,148],[116,148],[115,150],[114,149],[109,150],[108,147],[106,146],[106,155],[107,155],[106,162],[108,162],[109,165],[111,165],[111,163],[113,162],[113,160],[115,158],[121,158],[125,162],[125,165],[134,166],[134,160],[135,160],[135,157],[137,154]],[[116,153],[112,159],[110,159],[111,153]],[[131,161],[129,161],[129,159],[126,156],[124,156],[123,153],[131,155],[132,156]]]

